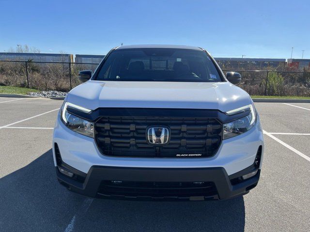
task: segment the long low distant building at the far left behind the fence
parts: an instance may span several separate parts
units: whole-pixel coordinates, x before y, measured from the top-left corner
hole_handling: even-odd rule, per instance
[[[0,60],[73,62],[72,54],[0,52]]]

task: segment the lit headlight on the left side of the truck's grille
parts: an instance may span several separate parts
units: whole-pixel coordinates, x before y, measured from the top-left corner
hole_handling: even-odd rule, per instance
[[[87,121],[83,118],[70,114],[67,111],[68,106],[75,108],[77,110],[83,109],[81,111],[84,111],[87,113],[89,113],[91,110],[85,109],[80,106],[76,106],[69,102],[64,102],[62,105],[61,118],[62,118],[63,124],[66,125],[66,127],[71,129],[72,131],[75,131],[79,134],[83,134],[85,136],[93,138],[93,122]]]

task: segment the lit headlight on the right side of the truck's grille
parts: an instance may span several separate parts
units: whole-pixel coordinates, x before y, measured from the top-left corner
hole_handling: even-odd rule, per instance
[[[226,114],[232,115],[232,114],[237,114],[239,112],[243,112],[246,110],[250,110],[250,113],[248,114],[248,116],[239,118],[229,123],[225,123],[223,125],[223,139],[232,138],[234,136],[247,132],[255,125],[256,113],[255,113],[254,106],[252,104],[247,105],[245,107],[241,107],[236,110],[226,112]]]

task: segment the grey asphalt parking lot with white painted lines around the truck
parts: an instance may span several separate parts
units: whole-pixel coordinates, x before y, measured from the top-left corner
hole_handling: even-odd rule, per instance
[[[0,231],[310,231],[310,103],[256,103],[261,179],[228,201],[90,199],[58,184],[52,128],[62,101],[0,98]]]

